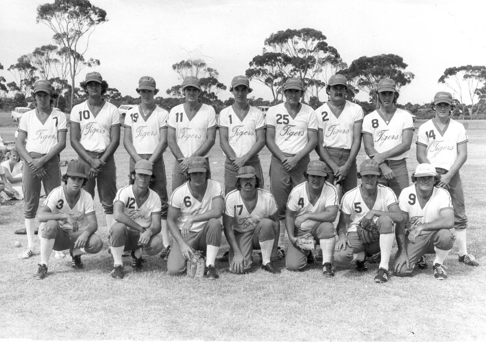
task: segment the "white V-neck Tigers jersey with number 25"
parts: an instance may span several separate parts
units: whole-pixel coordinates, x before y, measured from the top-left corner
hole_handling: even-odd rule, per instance
[[[308,131],[317,132],[319,123],[311,106],[302,103],[295,118],[285,108],[285,103],[268,109],[266,126],[275,129],[275,143],[283,153],[296,154],[309,141]]]

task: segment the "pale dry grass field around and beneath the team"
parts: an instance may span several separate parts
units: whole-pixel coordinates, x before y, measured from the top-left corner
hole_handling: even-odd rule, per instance
[[[14,131],[10,114],[0,113],[0,135],[13,140]],[[417,270],[410,278],[393,276],[379,285],[373,282],[377,265],[370,265],[365,274],[358,274],[354,268],[336,268],[336,276],[325,279],[319,265],[293,273],[285,270],[281,261],[279,275],[258,268],[250,274],[234,275],[226,271],[226,264],[217,262],[220,279],[211,282],[171,277],[166,261],[146,257],[141,274],[131,273],[131,259],[125,258],[127,274],[123,280],[115,280],[109,275],[113,264],[98,203],[97,234],[105,243],[103,250],[95,256],[83,256],[82,271],[71,268],[69,256],[63,260],[52,257],[48,276],[36,281],[32,274],[40,261],[38,253],[27,260],[17,258],[27,243],[26,236],[13,233],[24,224],[22,204],[18,202],[0,207],[0,338],[484,341],[486,136],[479,130],[469,130],[468,135],[469,159],[461,176],[469,215],[468,248],[480,262],[479,268],[458,263],[454,247],[445,261],[449,274],[445,281],[434,279],[432,266]],[[415,139],[409,155],[410,172],[417,165]],[[75,157],[68,142],[61,159]],[[127,183],[128,173],[128,156],[122,146],[115,158],[121,187]],[[166,151],[164,159],[170,190],[174,158]],[[263,169],[268,170],[270,153],[266,148],[260,159]],[[363,149],[357,159],[359,165],[364,159]],[[218,140],[209,160],[213,179],[223,181],[224,159]],[[268,174],[265,188],[269,188]],[[14,247],[15,240],[22,242],[22,248]],[[225,240],[220,253],[227,246]]]

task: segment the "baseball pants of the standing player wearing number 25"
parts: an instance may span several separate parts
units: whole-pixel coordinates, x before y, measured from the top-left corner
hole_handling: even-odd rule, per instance
[[[292,154],[285,154],[290,157]],[[307,171],[307,165],[311,161],[309,154],[304,156],[297,163],[294,171],[287,171],[278,158],[272,155],[270,162],[270,192],[274,195],[278,206],[278,217],[280,220],[285,219],[285,210],[290,192],[295,186],[306,181],[304,172]]]

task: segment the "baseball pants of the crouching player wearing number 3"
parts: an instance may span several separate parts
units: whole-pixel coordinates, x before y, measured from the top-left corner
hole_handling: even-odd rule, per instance
[[[42,228],[41,236],[44,239],[55,239],[54,251],[64,251],[66,249],[74,248],[74,243],[83,234],[84,230],[78,230],[73,232],[72,229],[61,228],[59,222],[55,220],[49,220],[44,224]],[[101,251],[103,247],[103,241],[96,234],[91,234],[84,247],[86,253],[96,254]]]

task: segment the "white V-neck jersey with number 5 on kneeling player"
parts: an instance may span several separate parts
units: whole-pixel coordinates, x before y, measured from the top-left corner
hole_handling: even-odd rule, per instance
[[[341,212],[349,215],[347,232],[355,232],[356,226],[370,210],[390,211],[392,205],[398,204],[397,196],[392,189],[377,184],[376,201],[372,208],[368,208],[361,195],[361,186],[347,191],[341,199]],[[376,222],[378,217],[374,218]]]

